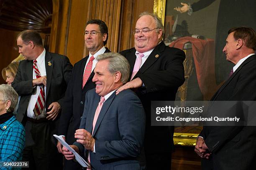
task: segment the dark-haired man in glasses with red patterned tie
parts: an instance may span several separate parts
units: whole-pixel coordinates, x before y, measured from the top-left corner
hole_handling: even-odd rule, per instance
[[[74,133],[79,128],[82,114],[84,111],[85,94],[88,90],[95,88],[92,82],[94,67],[97,63],[97,56],[104,52],[110,52],[106,45],[108,40],[108,27],[102,20],[89,20],[84,29],[84,43],[89,50],[89,55],[74,64],[71,80],[67,87],[64,97],[64,107],[62,108],[59,135],[68,144],[75,141]],[[94,60],[90,60],[90,58]],[[88,70],[88,71],[87,71]],[[87,80],[84,76],[88,74]],[[58,142],[57,148],[62,153],[61,143]],[[64,160],[64,169],[80,169],[80,165],[74,161]]]

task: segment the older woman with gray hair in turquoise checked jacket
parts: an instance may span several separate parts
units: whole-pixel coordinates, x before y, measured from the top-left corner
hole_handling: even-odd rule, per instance
[[[21,161],[25,130],[13,115],[18,94],[10,85],[0,85],[0,162]]]

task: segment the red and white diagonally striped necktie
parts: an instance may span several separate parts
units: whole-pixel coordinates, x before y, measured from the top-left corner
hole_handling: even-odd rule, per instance
[[[36,78],[40,78],[41,77],[41,74],[38,70],[38,67],[36,65],[36,60],[34,60],[33,62],[33,70],[36,74]],[[36,105],[33,109],[33,112],[35,114],[35,116],[38,116],[40,115],[42,112],[43,112],[43,109],[44,109],[44,105],[45,105],[45,96],[44,96],[44,85],[39,85],[40,87],[40,93],[37,97],[37,100],[36,100]]]

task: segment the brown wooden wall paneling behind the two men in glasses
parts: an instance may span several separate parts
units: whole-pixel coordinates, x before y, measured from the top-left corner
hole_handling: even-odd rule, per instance
[[[153,13],[154,0],[53,0],[50,51],[67,55],[74,64],[88,55],[84,47],[85,23],[103,20],[108,25],[106,47],[120,52],[134,46],[134,30],[138,15]]]

